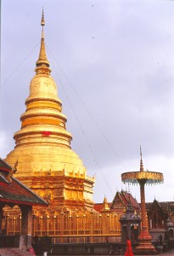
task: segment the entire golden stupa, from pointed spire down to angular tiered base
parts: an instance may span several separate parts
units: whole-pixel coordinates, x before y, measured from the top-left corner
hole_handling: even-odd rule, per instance
[[[70,148],[57,86],[51,77],[46,55],[42,12],[41,49],[36,75],[31,79],[20,131],[14,133],[15,147],[5,159],[17,166],[15,177],[49,201],[51,208],[93,207],[94,178],[87,176],[79,156]]]

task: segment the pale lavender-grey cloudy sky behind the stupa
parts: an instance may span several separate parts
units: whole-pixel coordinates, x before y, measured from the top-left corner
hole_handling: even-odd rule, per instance
[[[163,172],[146,200],[174,200],[174,1],[3,0],[0,156],[14,148],[40,49],[42,5],[52,76],[73,135],[95,175],[93,199],[112,201],[122,172]]]

